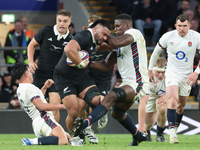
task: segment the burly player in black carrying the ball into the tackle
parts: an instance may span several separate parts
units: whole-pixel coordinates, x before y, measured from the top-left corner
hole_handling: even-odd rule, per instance
[[[93,79],[89,76],[89,61],[83,62],[78,54],[80,50],[86,50],[90,56],[95,53],[96,46],[107,40],[111,33],[111,26],[104,19],[96,20],[89,29],[78,32],[65,46],[65,53],[54,70],[55,86],[60,94],[63,104],[66,106],[68,116],[66,125],[68,131],[73,128],[73,123],[78,117],[80,103],[85,102],[94,109],[100,103],[100,93]],[[67,65],[69,57],[77,67]],[[81,98],[83,100],[78,99]]]

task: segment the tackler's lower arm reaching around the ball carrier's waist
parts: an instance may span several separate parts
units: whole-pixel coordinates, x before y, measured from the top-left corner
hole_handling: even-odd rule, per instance
[[[101,71],[109,71],[117,63],[115,51],[111,51],[104,61],[92,61],[90,67]]]

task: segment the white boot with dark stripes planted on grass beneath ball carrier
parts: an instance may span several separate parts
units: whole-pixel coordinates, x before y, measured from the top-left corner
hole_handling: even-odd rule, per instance
[[[91,126],[88,126],[83,130],[83,133],[88,137],[88,140],[92,144],[97,144],[99,142],[98,138],[94,134],[94,131],[92,130]]]

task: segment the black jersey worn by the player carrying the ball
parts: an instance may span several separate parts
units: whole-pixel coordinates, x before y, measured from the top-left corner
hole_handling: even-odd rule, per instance
[[[96,43],[93,43],[92,33],[89,30],[82,30],[78,32],[74,37],[81,47],[81,50],[85,50],[89,53],[90,57],[96,51]],[[61,59],[56,65],[56,73],[62,74],[68,78],[82,78],[85,74],[88,73],[89,65],[84,69],[79,69],[77,67],[72,67],[66,63],[67,56],[63,53]]]

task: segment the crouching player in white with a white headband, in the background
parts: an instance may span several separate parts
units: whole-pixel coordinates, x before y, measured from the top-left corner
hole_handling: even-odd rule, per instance
[[[166,59],[159,57],[153,67],[154,81],[149,82],[148,103],[146,105],[145,128],[147,130],[147,141],[153,141],[150,129],[157,120],[157,142],[166,142],[163,131],[167,120],[168,98],[165,92],[165,65]]]

